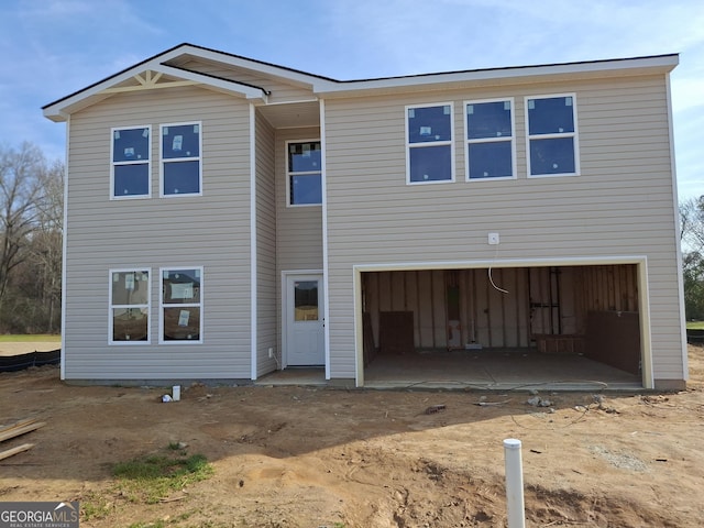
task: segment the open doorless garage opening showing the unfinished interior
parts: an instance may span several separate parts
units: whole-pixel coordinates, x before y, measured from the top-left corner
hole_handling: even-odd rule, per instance
[[[642,386],[636,264],[362,273],[365,386]]]

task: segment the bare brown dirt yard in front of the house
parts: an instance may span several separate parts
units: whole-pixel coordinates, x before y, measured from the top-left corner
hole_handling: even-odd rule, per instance
[[[504,527],[503,440],[522,442],[529,527],[704,526],[704,349],[676,394],[70,386],[0,374],[0,502],[80,501],[87,527]],[[481,404],[481,405],[480,405]],[[442,407],[443,406],[443,407]],[[178,446],[212,475],[147,504],[118,462]]]

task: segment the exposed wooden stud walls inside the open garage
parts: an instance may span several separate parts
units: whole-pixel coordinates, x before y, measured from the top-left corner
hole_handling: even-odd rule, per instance
[[[363,306],[374,345],[382,311],[414,314],[416,349],[455,345],[448,286],[459,289],[460,348],[529,348],[532,336],[584,334],[590,311],[638,310],[635,265],[369,272]]]

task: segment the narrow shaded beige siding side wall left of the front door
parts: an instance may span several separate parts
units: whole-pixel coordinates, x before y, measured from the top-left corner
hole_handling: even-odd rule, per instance
[[[276,172],[274,129],[256,116],[256,374],[276,370],[268,348],[276,350]]]

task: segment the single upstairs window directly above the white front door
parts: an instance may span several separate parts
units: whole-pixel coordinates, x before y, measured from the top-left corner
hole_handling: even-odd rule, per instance
[[[319,141],[287,143],[286,174],[289,206],[322,204],[322,151]]]

